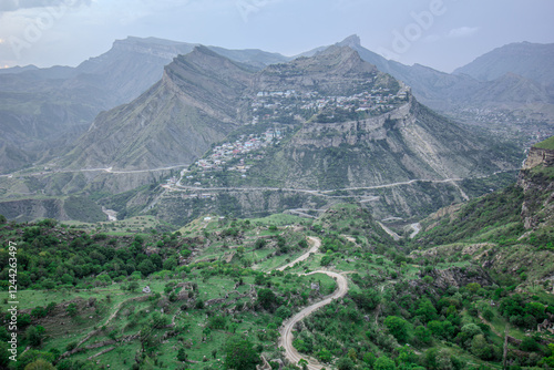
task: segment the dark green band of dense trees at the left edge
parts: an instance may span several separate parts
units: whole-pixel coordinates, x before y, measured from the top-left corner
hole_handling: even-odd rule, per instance
[[[18,245],[18,287],[53,289],[106,286],[133,274],[146,277],[161,270],[175,270],[179,256],[191,254],[178,234],[115,237],[58,226],[44,219],[34,224],[0,226],[0,240]],[[148,253],[155,250],[155,253]],[[9,279],[9,254],[0,250],[0,286]]]

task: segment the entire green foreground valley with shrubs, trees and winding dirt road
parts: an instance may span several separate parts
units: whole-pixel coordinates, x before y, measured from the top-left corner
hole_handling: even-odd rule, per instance
[[[412,238],[394,223],[403,237],[392,238],[359,203],[315,218],[208,214],[176,232],[138,218],[142,234],[132,219],[120,233],[2,218],[0,284],[10,285],[8,246],[17,246],[20,289],[19,360],[0,360],[13,369],[548,368],[554,250],[541,199],[552,182],[541,171],[550,165],[537,167],[441,209]]]

